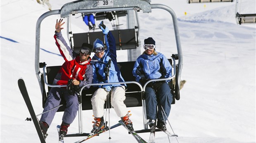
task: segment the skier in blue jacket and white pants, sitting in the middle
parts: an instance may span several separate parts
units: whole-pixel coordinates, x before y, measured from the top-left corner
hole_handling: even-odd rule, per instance
[[[107,49],[105,50],[104,44],[100,39],[96,39],[93,43],[93,52],[95,55],[92,57],[92,83],[114,83],[123,82],[120,70],[116,62],[116,43],[114,36],[109,29],[104,25],[103,21],[100,23],[99,28],[103,31]],[[109,72],[106,67],[109,67]],[[109,76],[107,76],[109,74]],[[124,104],[126,85],[109,84],[99,85],[99,88],[92,95],[92,111],[94,115],[94,124],[91,133],[97,133],[100,129],[104,128],[104,103],[107,100],[107,95],[111,93],[111,106],[114,107],[116,114],[121,118],[123,123],[133,131],[133,123],[129,119],[129,112]]]

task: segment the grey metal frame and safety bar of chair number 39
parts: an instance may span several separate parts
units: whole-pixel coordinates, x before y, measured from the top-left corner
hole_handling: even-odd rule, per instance
[[[36,51],[35,51],[35,70],[36,70],[36,77],[38,78],[38,83],[40,85],[41,93],[42,95],[45,95],[45,84],[50,87],[65,87],[66,85],[50,85],[46,82],[46,73],[45,73],[45,64],[39,62],[40,57],[40,25],[47,16],[51,15],[57,15],[60,14],[61,18],[69,18],[70,14],[78,14],[78,13],[90,13],[90,12],[107,12],[107,11],[121,11],[121,10],[135,10],[140,11],[142,10],[143,13],[149,13],[152,9],[164,9],[167,12],[169,12],[172,16],[173,20],[173,28],[174,28],[174,34],[175,34],[175,40],[176,40],[176,46],[178,51],[178,64],[177,64],[177,72],[175,69],[175,60],[174,60],[174,75],[171,78],[164,78],[164,79],[154,79],[148,81],[145,86],[142,88],[142,86],[135,82],[135,81],[126,81],[122,83],[134,83],[137,84],[142,92],[145,92],[146,85],[151,81],[162,81],[162,80],[170,80],[175,77],[178,81],[178,85],[180,85],[180,76],[181,71],[183,68],[183,54],[182,49],[180,45],[180,36],[178,31],[178,20],[175,15],[175,12],[168,6],[162,5],[162,4],[150,4],[151,0],[113,0],[113,6],[107,6],[107,7],[99,7],[97,6],[97,2],[99,0],[77,0],[74,2],[69,2],[62,6],[59,10],[52,10],[49,12],[46,12],[42,14],[36,23]],[[102,1],[102,0],[100,0]],[[69,35],[69,31],[67,30],[67,34]],[[43,73],[41,73],[40,68],[43,67]],[[111,84],[122,84],[122,83],[111,83]],[[109,83],[94,83],[89,85],[104,85]],[[85,87],[85,86],[84,86]],[[84,88],[83,87],[83,88]],[[82,92],[82,90],[81,90]],[[81,94],[81,93],[80,93]],[[146,116],[146,108],[145,108],[145,100],[142,101],[142,112],[143,112],[143,122],[144,122],[144,129],[147,129],[147,116]],[[83,120],[82,120],[82,108],[81,104],[79,105],[78,110],[78,123],[79,123],[79,133],[83,134]]]

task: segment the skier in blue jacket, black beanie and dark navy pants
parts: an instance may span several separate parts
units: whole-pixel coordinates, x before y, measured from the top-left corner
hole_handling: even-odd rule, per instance
[[[156,52],[156,42],[152,37],[144,40],[145,51],[140,55],[133,67],[133,76],[142,86],[150,79],[170,78],[171,64],[168,59],[159,52]],[[156,126],[166,130],[166,120],[171,111],[173,95],[167,83],[168,81],[155,81],[147,84],[145,88],[146,112],[149,127]],[[161,113],[161,106],[167,117]],[[158,109],[157,109],[158,107]],[[157,125],[156,125],[157,119]]]

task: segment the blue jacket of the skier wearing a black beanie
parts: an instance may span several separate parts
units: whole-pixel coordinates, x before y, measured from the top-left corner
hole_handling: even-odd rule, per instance
[[[158,79],[170,78],[172,76],[172,67],[168,59],[157,52],[157,55],[140,55],[133,67],[133,76],[139,82],[140,78]],[[168,82],[168,81],[166,81]]]

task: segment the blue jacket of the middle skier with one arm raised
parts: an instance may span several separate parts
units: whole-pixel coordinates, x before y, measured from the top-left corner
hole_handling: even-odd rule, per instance
[[[98,58],[96,55],[92,57],[90,63],[92,64],[93,71],[93,80],[92,83],[112,83],[112,82],[123,82],[124,79],[121,76],[121,72],[117,66],[116,61],[116,43],[114,36],[109,31],[105,36],[107,49],[104,51],[104,55],[102,58]],[[95,44],[100,44],[96,43]],[[109,81],[107,81],[107,76],[105,73],[105,68],[107,63],[111,59],[111,67],[109,69]],[[113,84],[111,87],[120,86],[121,84]],[[125,85],[125,84],[122,84]],[[126,86],[126,85],[125,85]],[[101,86],[99,86],[102,88]]]

